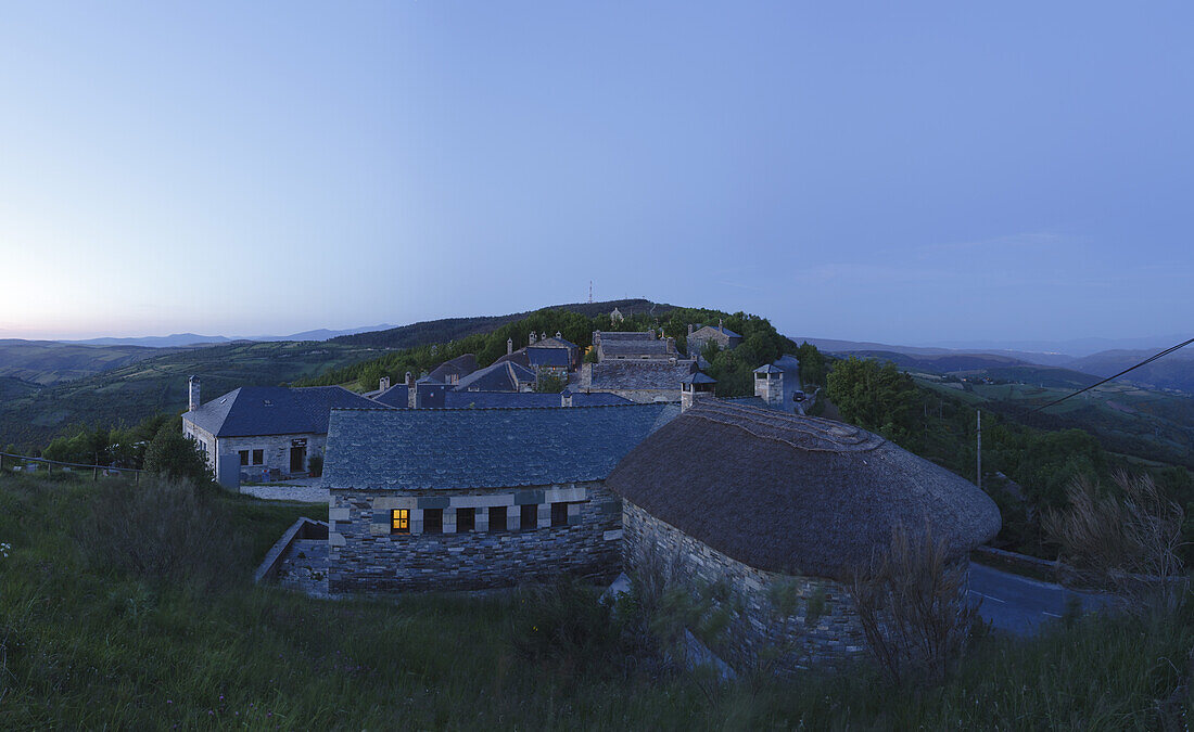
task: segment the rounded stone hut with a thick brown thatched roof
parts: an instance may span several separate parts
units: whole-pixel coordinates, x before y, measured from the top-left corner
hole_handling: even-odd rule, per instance
[[[718,644],[751,666],[839,662],[864,639],[844,582],[903,526],[950,560],[999,531],[970,482],[869,432],[707,399],[634,448],[607,485],[623,498],[623,562],[728,590]]]

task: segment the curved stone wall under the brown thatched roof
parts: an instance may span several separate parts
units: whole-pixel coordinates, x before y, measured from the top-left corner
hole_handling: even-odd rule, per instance
[[[747,566],[629,501],[623,501],[622,526],[627,570],[653,566],[694,591],[728,590],[721,606],[730,609],[730,622],[709,641],[714,652],[739,671],[836,666],[864,650],[866,637],[842,584]],[[777,603],[793,612],[784,616]]]

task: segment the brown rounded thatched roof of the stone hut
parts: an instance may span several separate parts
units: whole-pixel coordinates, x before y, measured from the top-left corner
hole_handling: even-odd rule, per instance
[[[901,523],[961,556],[999,531],[970,482],[869,432],[698,402],[618,463],[607,485],[750,566],[845,579]]]

